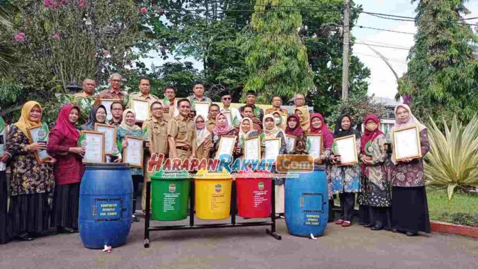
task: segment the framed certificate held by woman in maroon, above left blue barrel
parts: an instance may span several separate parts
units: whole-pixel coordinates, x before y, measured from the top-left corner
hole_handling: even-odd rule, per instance
[[[80,146],[84,148],[83,163],[104,163],[104,133],[82,131]]]

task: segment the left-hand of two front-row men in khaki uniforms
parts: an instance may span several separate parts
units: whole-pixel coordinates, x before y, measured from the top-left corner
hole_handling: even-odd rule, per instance
[[[161,102],[154,102],[151,104],[151,117],[143,122],[143,130],[148,130],[149,141],[148,151],[144,156],[144,182],[143,182],[143,194],[141,199],[141,207],[143,211],[146,210],[146,182],[151,181],[151,174],[148,172],[148,161],[152,154],[163,154],[165,158],[168,158],[169,145],[168,145],[168,121],[163,117],[163,105]],[[145,137],[145,140],[147,138]]]

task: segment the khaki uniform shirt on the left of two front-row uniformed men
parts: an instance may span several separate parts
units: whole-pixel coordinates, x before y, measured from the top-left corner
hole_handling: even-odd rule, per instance
[[[148,128],[150,134],[150,143],[152,153],[164,154],[168,156],[169,143],[168,143],[168,121],[158,121],[154,117],[150,117],[143,122],[142,128]]]

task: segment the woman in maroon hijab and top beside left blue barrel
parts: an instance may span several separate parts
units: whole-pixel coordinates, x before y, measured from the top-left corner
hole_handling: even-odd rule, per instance
[[[80,181],[84,172],[84,149],[78,147],[80,132],[75,127],[80,118],[80,108],[63,106],[50,132],[47,145],[51,156],[58,156],[54,165],[55,192],[53,196],[52,222],[58,233],[78,232],[78,203]]]

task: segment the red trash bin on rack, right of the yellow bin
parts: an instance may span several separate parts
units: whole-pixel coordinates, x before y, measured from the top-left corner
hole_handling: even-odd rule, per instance
[[[271,216],[272,178],[267,174],[241,171],[236,176],[238,215],[242,218]]]

